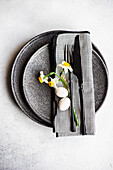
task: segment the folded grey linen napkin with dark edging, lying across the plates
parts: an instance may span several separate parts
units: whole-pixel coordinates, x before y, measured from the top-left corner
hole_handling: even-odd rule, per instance
[[[64,33],[57,36],[56,39],[56,63],[59,64],[64,60],[64,47],[65,44],[69,46],[74,45],[75,36],[79,35],[80,38],[80,53],[81,65],[83,74],[83,101],[85,111],[85,125],[87,135],[95,134],[95,98],[94,98],[94,85],[92,73],[92,44],[90,41],[89,33]],[[59,69],[56,68],[59,74]],[[68,75],[66,75],[68,79]],[[58,98],[56,97],[56,100]],[[55,132],[57,136],[73,136],[82,135],[81,131],[81,117],[80,117],[80,98],[78,80],[73,75],[73,103],[79,121],[79,127],[76,127],[76,132],[71,132],[70,122],[70,108],[66,111],[60,111],[57,108],[57,115],[55,116]]]

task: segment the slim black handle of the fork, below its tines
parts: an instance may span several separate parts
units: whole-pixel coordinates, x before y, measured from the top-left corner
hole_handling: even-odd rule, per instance
[[[73,112],[73,83],[71,81],[71,73],[70,73],[70,101],[71,101],[71,131],[76,132],[76,123],[74,118],[74,112]]]

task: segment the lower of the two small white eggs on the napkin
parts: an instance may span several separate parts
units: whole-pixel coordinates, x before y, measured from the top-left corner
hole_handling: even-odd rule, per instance
[[[65,111],[70,107],[70,99],[68,97],[64,97],[59,101],[58,107],[61,111]]]

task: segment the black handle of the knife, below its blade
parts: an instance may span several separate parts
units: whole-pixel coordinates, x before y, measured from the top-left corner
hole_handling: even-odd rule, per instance
[[[86,135],[86,126],[85,126],[85,113],[84,113],[84,104],[83,104],[83,85],[80,85],[79,88],[80,94],[80,105],[81,105],[81,124],[82,124],[82,135]]]

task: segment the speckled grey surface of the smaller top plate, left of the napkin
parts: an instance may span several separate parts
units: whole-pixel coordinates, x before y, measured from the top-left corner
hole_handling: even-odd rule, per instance
[[[50,73],[48,44],[40,48],[28,61],[23,75],[25,97],[33,111],[44,121],[51,124],[51,89],[38,81],[40,71]]]

